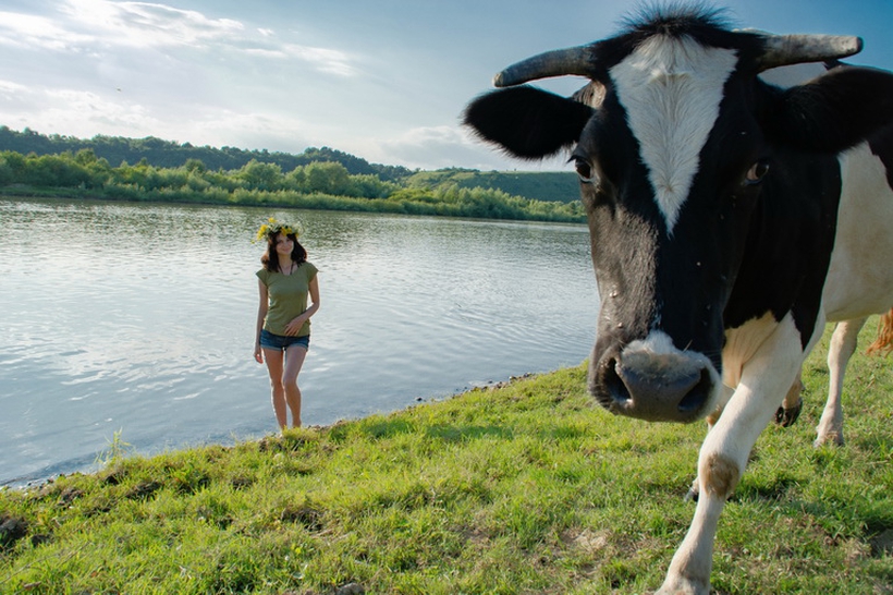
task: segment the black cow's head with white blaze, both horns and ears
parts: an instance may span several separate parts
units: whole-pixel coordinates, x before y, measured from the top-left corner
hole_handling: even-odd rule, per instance
[[[764,185],[786,175],[773,171],[774,156],[836,151],[874,125],[851,109],[870,95],[854,74],[870,76],[866,69],[785,90],[758,74],[860,46],[663,14],[510,66],[496,77],[510,88],[468,106],[465,123],[513,156],[571,149],[601,299],[589,385],[602,405],[681,422],[715,406],[730,295]],[[590,80],[572,98],[515,86],[568,74]]]

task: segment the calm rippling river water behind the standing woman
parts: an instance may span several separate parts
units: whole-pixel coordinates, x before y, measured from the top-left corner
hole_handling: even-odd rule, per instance
[[[577,365],[598,296],[584,226],[0,199],[0,485],[277,430],[252,355],[267,217],[299,219],[322,307],[308,425]]]

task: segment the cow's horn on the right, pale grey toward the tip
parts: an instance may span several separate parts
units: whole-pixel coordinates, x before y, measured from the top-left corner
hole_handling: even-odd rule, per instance
[[[764,50],[757,61],[760,71],[846,58],[863,49],[860,37],[851,35],[763,35]]]

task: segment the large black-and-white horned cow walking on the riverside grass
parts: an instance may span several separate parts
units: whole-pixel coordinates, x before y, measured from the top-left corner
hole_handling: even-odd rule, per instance
[[[760,76],[861,45],[655,9],[509,66],[494,80],[505,88],[465,109],[514,157],[570,151],[601,302],[595,400],[710,426],[694,519],[658,593],[709,593],[725,501],[825,323],[893,306],[893,74],[842,65],[790,88]],[[526,85],[563,75],[588,83],[571,98]]]

